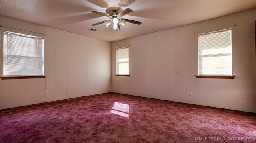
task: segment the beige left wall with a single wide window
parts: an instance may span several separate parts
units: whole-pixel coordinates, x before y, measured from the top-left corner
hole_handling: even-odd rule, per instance
[[[111,91],[111,43],[1,17],[3,30],[44,37],[44,71],[42,79],[0,79],[0,109],[50,102]],[[91,32],[91,31],[85,31]],[[1,39],[1,46],[2,46]],[[2,48],[0,73],[2,71]],[[67,88],[70,92],[67,92]]]

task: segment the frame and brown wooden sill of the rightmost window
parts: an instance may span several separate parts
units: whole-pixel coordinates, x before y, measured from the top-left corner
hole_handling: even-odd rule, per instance
[[[202,33],[202,34],[198,34],[198,75],[196,75],[196,78],[218,78],[218,79],[234,79],[234,75],[222,75],[222,74],[220,74],[220,75],[215,75],[215,74],[202,74],[202,75],[200,75],[199,74],[199,72],[200,72],[200,61],[199,61],[199,57],[201,56],[200,55],[200,44],[199,44],[199,36],[200,35],[208,35],[208,34],[213,34],[213,33],[219,33],[219,32],[226,32],[226,31],[230,31],[230,46],[231,46],[231,52],[230,52],[230,56],[231,56],[231,70],[232,70],[232,29],[230,28],[230,29],[223,29],[223,30],[218,30],[218,31],[212,31],[212,32],[208,32],[208,33]],[[225,55],[226,53],[218,53],[218,54],[208,54],[207,56],[210,56],[210,55],[212,55],[212,56],[210,56],[210,57],[214,57],[214,56],[216,56],[216,55]],[[207,57],[207,56],[204,56],[204,57]],[[232,72],[232,71],[231,71]]]

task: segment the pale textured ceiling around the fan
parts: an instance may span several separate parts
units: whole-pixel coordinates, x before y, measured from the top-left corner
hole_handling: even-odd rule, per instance
[[[130,8],[122,18],[142,22],[127,23],[115,31],[104,24],[109,7]],[[256,0],[1,0],[1,16],[22,20],[105,41],[118,41],[202,20],[255,8]],[[89,31],[94,28],[97,31]]]

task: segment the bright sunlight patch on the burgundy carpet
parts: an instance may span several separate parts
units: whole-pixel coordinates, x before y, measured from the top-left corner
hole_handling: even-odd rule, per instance
[[[115,102],[110,113],[129,118],[129,105]]]

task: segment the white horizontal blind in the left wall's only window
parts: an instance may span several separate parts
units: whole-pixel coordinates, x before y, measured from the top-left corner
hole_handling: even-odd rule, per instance
[[[4,31],[4,76],[44,75],[44,39]]]

